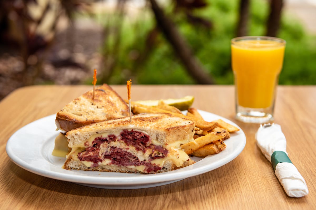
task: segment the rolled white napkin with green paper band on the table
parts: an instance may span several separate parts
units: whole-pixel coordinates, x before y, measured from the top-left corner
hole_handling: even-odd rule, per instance
[[[256,133],[257,145],[264,156],[272,163],[276,177],[290,197],[302,197],[308,194],[304,178],[292,164],[286,152],[286,139],[281,126],[260,126]],[[272,156],[272,158],[271,158]]]

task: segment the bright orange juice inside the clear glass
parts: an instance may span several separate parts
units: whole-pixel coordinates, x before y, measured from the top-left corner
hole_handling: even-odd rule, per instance
[[[284,41],[232,41],[232,68],[238,105],[249,108],[273,105],[284,49]]]

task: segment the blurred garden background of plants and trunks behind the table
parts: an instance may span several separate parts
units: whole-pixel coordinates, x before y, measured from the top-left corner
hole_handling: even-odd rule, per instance
[[[280,84],[316,84],[315,33],[285,2],[2,0],[0,99],[25,85],[91,84],[94,68],[99,84],[233,84],[230,39],[251,35],[287,41]]]

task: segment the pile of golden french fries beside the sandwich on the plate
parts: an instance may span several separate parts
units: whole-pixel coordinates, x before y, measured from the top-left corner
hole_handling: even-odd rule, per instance
[[[181,148],[188,155],[197,157],[218,154],[225,150],[224,140],[230,138],[230,133],[239,131],[239,128],[221,119],[212,122],[205,121],[196,108],[189,108],[187,115],[184,115],[179,109],[165,104],[162,100],[156,107],[131,102],[131,109],[134,114],[165,112],[192,120],[195,123],[194,140],[181,145]]]

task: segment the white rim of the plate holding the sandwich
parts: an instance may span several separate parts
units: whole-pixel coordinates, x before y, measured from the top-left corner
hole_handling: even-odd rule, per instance
[[[239,147],[234,150],[234,153],[230,153],[227,156],[225,156],[222,159],[223,161],[217,162],[217,164],[213,164],[213,165],[212,164],[204,164],[202,166],[198,166],[198,168],[197,168],[198,170],[191,169],[191,173],[185,173],[188,170],[190,170],[188,168],[190,166],[187,166],[187,167],[183,167],[183,168],[176,169],[176,170],[169,171],[169,172],[155,173],[155,174],[142,174],[142,175],[137,175],[137,176],[132,176],[132,177],[123,177],[122,176],[119,178],[115,176],[115,174],[118,174],[118,172],[106,172],[106,173],[113,173],[113,176],[93,176],[93,179],[91,179],[91,178],[89,178],[89,176],[68,173],[65,169],[63,169],[63,170],[65,170],[65,173],[60,173],[60,172],[56,172],[56,171],[47,171],[47,170],[41,169],[40,167],[35,167],[32,164],[27,164],[26,162],[23,162],[23,160],[19,156],[17,156],[13,151],[14,150],[14,143],[15,143],[14,142],[15,136],[19,135],[27,127],[32,127],[32,125],[40,123],[41,121],[45,121],[47,119],[53,118],[52,123],[54,123],[55,122],[54,118],[55,118],[56,114],[42,117],[38,120],[35,120],[33,122],[28,123],[27,125],[23,126],[20,129],[18,129],[8,139],[7,144],[6,144],[6,153],[12,162],[14,162],[16,165],[18,165],[19,167],[21,167],[29,172],[32,172],[32,173],[35,173],[35,174],[38,174],[38,175],[41,175],[44,177],[74,182],[77,184],[82,183],[82,184],[98,184],[98,185],[103,185],[103,186],[126,186],[127,188],[125,188],[125,189],[128,189],[128,186],[132,187],[133,185],[139,185],[139,184],[153,185],[155,183],[170,182],[170,181],[178,180],[178,179],[182,180],[182,179],[186,179],[186,178],[189,178],[192,176],[197,176],[199,174],[203,174],[203,173],[215,170],[218,167],[226,165],[228,162],[231,162],[237,156],[239,156],[246,145],[246,135],[237,124],[235,124],[234,122],[232,122],[232,121],[230,121],[227,118],[224,118],[222,116],[219,116],[219,115],[207,112],[207,111],[202,111],[202,110],[198,110],[198,111],[201,113],[202,116],[207,114],[207,115],[210,115],[211,117],[217,117],[219,119],[223,119],[224,121],[238,127],[240,129],[240,131],[238,131],[239,132],[238,135],[240,135],[240,137],[241,137],[241,139],[239,140],[241,143],[239,144]],[[47,126],[47,125],[42,125],[42,126]],[[53,135],[54,133],[59,133],[59,132],[53,130],[51,135]],[[44,142],[46,142],[47,140],[48,139],[46,138],[41,143],[44,144]],[[43,147],[43,145],[39,145],[39,146],[40,146],[40,148]],[[43,156],[42,153],[40,153],[40,155],[42,156],[43,159],[46,160],[46,158]],[[218,155],[218,154],[216,154],[216,155]],[[211,156],[204,157],[201,160],[206,161],[206,158],[211,159]],[[55,166],[52,163],[48,162],[47,160],[46,160],[46,162],[48,164],[51,164],[52,166]],[[198,162],[200,162],[200,161],[198,161]],[[195,164],[199,165],[198,162]],[[193,165],[191,165],[191,167]],[[212,167],[210,167],[210,165]],[[57,167],[57,166],[55,166],[55,167]],[[84,172],[89,173],[88,171],[83,171],[83,173]],[[184,172],[184,173],[181,173],[181,172]],[[100,172],[98,172],[98,173],[100,173]],[[144,178],[143,176],[146,176],[146,179],[143,179]],[[115,182],[113,182],[113,179],[117,179],[117,180]],[[109,183],[109,182],[111,182],[111,183]]]

